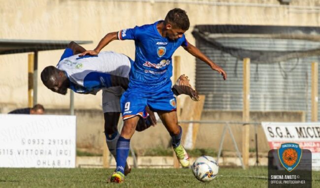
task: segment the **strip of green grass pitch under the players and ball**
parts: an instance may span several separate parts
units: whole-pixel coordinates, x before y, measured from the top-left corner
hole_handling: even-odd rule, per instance
[[[0,188],[267,188],[267,168],[220,168],[209,183],[196,180],[191,169],[132,169],[123,184],[106,184],[113,169],[0,168]],[[313,187],[320,172],[313,171]]]

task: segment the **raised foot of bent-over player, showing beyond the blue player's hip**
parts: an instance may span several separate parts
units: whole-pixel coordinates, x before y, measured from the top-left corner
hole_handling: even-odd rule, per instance
[[[172,86],[172,92],[175,95],[187,94],[192,100],[199,101],[199,95],[197,91],[192,88],[188,76],[185,76],[184,74],[181,75],[176,83]]]

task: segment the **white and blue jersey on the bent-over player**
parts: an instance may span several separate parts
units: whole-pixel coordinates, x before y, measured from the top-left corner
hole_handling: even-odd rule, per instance
[[[96,94],[101,89],[112,87],[111,75],[129,78],[131,61],[124,54],[109,51],[100,52],[97,56],[70,56],[61,60],[57,68],[66,72],[71,90]]]

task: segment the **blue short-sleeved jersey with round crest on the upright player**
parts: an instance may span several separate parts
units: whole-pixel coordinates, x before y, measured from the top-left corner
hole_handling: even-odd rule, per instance
[[[177,40],[162,37],[154,24],[118,32],[119,40],[134,40],[135,60],[131,67],[129,90],[137,93],[160,94],[171,92],[172,55],[179,46],[187,46],[185,35]]]

